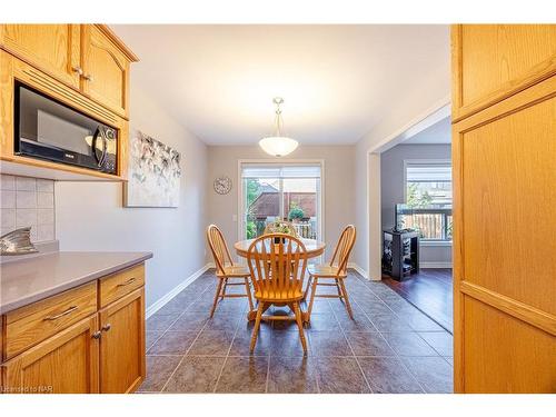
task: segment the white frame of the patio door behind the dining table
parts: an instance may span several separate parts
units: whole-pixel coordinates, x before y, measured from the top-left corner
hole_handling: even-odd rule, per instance
[[[317,197],[317,234],[320,236],[321,241],[325,239],[325,160],[324,159],[238,159],[238,240],[245,240],[245,228],[244,228],[244,181],[241,179],[241,166],[246,163],[265,163],[265,165],[319,165],[320,166],[320,195]]]

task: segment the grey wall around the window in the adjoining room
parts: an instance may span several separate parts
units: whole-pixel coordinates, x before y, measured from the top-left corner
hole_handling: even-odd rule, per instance
[[[451,160],[450,145],[398,145],[380,153],[380,203],[383,229],[394,227],[394,206],[404,202],[404,160]],[[451,262],[451,245],[427,246],[421,242],[420,261],[426,265]]]

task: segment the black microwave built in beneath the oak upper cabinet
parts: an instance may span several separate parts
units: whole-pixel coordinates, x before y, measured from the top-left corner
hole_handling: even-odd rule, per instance
[[[16,155],[117,173],[117,129],[19,82],[14,106]]]

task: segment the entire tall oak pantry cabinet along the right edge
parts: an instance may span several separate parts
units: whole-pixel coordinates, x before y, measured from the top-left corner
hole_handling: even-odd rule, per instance
[[[457,393],[556,393],[556,26],[453,27]]]

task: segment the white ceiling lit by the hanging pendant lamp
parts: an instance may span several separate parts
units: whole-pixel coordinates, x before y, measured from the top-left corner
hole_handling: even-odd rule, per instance
[[[117,24],[131,77],[209,145],[256,143],[285,99],[301,145],[354,143],[423,80],[449,93],[447,26]],[[401,121],[405,122],[405,121]]]

